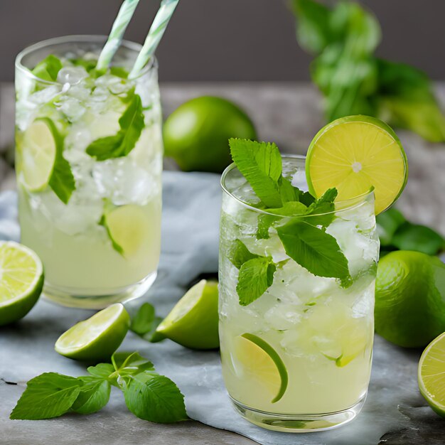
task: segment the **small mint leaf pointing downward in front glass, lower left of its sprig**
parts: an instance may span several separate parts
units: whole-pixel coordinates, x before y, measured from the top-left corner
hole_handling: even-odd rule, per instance
[[[240,305],[247,306],[259,299],[272,286],[276,270],[272,259],[266,257],[249,259],[242,264],[237,283]]]

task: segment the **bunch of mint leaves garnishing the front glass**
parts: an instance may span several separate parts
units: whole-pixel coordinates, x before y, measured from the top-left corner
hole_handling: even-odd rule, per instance
[[[287,255],[311,274],[336,278],[342,286],[351,283],[346,259],[336,239],[326,232],[331,224],[337,190],[331,188],[316,199],[292,186],[282,175],[282,156],[277,145],[230,139],[232,159],[261,200],[257,240],[268,239],[274,227]],[[272,286],[277,267],[272,257],[254,254],[235,240],[228,257],[237,269],[237,294],[242,306],[258,299]]]

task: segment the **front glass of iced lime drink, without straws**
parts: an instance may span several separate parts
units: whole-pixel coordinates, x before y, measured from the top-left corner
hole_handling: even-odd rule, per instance
[[[283,156],[284,178],[301,190],[307,190],[304,163]],[[235,164],[223,173],[222,186],[220,348],[233,404],[250,422],[279,431],[329,429],[352,420],[365,401],[372,359],[379,252],[372,191],[336,202],[331,213],[306,217],[313,230],[326,226],[347,259],[350,278],[342,282],[311,274],[286,253],[280,227],[304,218],[260,210]],[[291,227],[296,232],[287,233],[298,237],[300,226]],[[244,305],[234,247],[238,257],[273,264],[268,289]],[[263,276],[252,273],[258,273],[253,288]]]

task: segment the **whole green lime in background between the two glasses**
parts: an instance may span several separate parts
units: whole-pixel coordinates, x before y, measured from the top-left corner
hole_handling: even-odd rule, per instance
[[[250,117],[222,97],[196,97],[166,120],[163,141],[183,171],[222,172],[231,162],[229,139],[257,139]]]

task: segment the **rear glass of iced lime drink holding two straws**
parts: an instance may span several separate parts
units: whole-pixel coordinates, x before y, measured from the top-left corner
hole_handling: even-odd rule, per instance
[[[141,46],[124,41],[98,74],[105,41],[55,38],[16,59],[21,242],[43,261],[44,295],[85,308],[144,294],[160,253],[157,63],[129,80]]]

